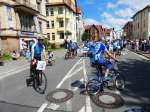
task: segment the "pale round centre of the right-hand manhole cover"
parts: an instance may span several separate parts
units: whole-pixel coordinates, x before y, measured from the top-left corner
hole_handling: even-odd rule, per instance
[[[111,104],[115,102],[115,98],[109,95],[102,95],[99,97],[99,100],[107,104]]]

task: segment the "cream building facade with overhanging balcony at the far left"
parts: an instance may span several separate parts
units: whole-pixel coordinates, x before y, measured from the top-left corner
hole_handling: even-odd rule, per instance
[[[1,0],[0,40],[3,51],[20,50],[27,43],[43,37],[46,29],[45,0]],[[46,33],[45,33],[46,34]]]

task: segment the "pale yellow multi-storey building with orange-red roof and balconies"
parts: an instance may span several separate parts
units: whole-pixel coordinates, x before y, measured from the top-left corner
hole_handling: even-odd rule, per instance
[[[75,12],[74,0],[47,0],[47,35],[50,43],[60,45],[64,39],[77,41]]]

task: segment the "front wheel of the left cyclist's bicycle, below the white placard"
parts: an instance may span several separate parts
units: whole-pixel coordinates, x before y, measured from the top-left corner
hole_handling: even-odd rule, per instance
[[[44,72],[38,71],[38,75],[34,78],[34,89],[40,93],[44,94],[47,89],[47,78]]]

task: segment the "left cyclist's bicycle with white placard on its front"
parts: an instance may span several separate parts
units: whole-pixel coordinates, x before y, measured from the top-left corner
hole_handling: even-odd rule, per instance
[[[26,79],[26,84],[32,86],[33,89],[40,94],[44,94],[47,89],[47,78],[43,70],[45,70],[46,62],[34,60],[31,62],[30,76]]]

